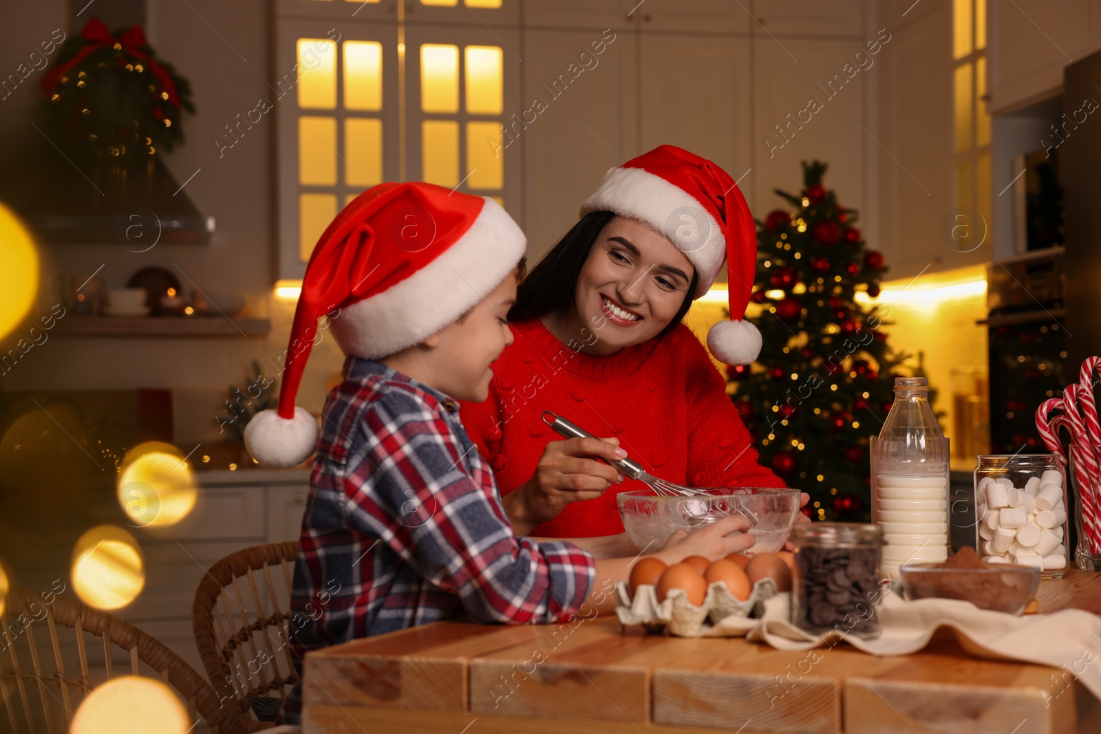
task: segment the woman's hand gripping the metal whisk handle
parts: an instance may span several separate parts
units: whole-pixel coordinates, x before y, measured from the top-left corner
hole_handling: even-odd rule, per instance
[[[550,441],[543,450],[535,474],[504,496],[504,511],[516,535],[554,519],[571,502],[595,500],[623,474],[603,461],[626,458],[618,438],[570,438]]]

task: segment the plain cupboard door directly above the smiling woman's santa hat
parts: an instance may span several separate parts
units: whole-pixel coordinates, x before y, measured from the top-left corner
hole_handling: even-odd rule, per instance
[[[679,145],[738,179],[751,165],[749,39],[644,31],[639,44],[639,147]]]

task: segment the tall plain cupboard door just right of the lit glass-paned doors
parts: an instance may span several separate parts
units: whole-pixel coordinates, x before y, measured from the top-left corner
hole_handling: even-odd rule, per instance
[[[522,124],[510,117],[506,138],[509,153],[523,151],[528,266],[577,222],[608,169],[640,152],[635,43],[621,31],[524,33]]]

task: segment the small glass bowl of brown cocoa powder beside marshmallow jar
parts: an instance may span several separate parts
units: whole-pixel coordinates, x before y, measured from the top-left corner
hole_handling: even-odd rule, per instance
[[[1028,566],[986,563],[964,547],[942,563],[903,563],[911,599],[959,599],[981,610],[1021,615],[1039,587],[1039,571]]]

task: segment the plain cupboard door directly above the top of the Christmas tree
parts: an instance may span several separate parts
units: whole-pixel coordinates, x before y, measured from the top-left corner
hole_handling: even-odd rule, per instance
[[[792,37],[754,39],[753,44],[753,172],[742,191],[754,216],[787,207],[774,189],[797,194],[803,188],[800,162],[814,160],[829,164],[825,185],[837,190],[840,204],[866,216],[865,160],[877,146],[864,129],[871,130],[868,105],[874,96],[868,72],[853,73],[859,67],[852,63],[864,46]],[[871,69],[890,46],[871,57]]]

